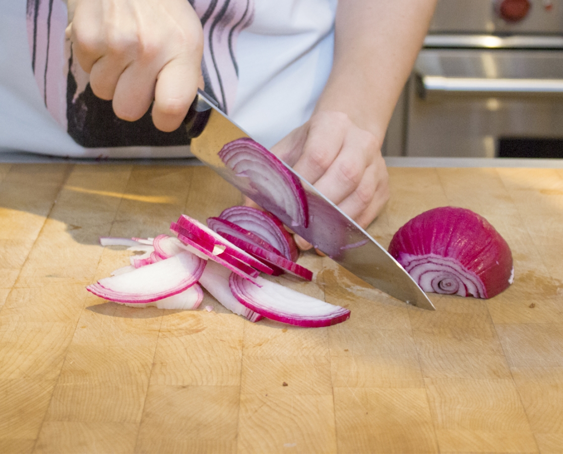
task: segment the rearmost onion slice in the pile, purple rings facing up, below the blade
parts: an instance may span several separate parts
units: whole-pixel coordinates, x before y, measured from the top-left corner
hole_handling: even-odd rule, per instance
[[[234,206],[224,210],[219,218],[258,235],[279,250],[286,259],[294,262],[299,258],[299,249],[293,235],[285,230],[282,221],[272,213],[252,207]]]

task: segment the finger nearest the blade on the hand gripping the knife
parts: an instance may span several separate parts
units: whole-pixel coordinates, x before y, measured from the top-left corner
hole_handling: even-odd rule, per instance
[[[198,92],[200,66],[187,60],[172,60],[158,75],[155,88],[153,123],[161,131],[174,131],[184,118]]]

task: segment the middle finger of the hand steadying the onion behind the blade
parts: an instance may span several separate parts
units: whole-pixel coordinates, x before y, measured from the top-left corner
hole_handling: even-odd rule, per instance
[[[355,128],[347,133],[341,152],[315,183],[315,188],[338,204],[354,193],[373,156],[378,152],[375,137]]]

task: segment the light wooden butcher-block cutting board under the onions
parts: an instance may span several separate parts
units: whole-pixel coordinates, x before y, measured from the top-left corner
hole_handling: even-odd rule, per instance
[[[0,452],[562,452],[563,171],[391,168],[369,228],[387,246],[436,206],[507,239],[515,283],[425,311],[312,253],[301,291],[329,328],[138,309],[84,287],[128,263],[103,235],[154,237],[240,194],[203,167],[0,164]],[[211,311],[205,306],[212,306]]]

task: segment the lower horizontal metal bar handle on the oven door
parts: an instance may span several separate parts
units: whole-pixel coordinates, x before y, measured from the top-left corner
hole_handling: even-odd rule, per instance
[[[431,94],[563,96],[563,79],[486,79],[417,74],[416,82],[422,99]]]

